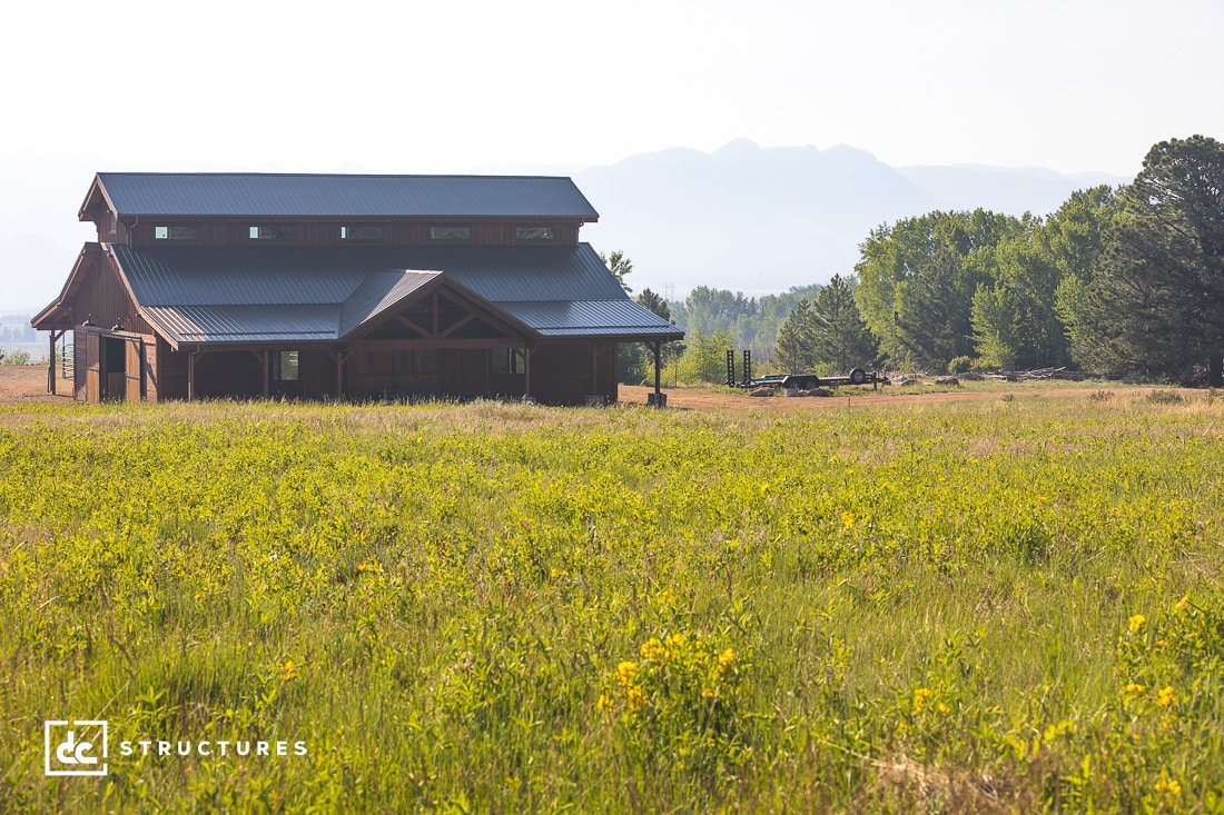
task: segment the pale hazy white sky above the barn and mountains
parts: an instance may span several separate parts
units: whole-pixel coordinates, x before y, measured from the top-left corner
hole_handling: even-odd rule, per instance
[[[33,291],[17,248],[62,255],[37,301],[62,285],[95,170],[470,173],[749,138],[1132,176],[1158,141],[1224,138],[1222,34],[1224,0],[9,4],[0,310]]]

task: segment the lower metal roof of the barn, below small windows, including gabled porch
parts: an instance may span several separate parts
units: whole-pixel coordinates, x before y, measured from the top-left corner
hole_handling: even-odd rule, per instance
[[[175,344],[340,340],[442,279],[541,338],[683,337],[629,300],[586,244],[109,250]]]

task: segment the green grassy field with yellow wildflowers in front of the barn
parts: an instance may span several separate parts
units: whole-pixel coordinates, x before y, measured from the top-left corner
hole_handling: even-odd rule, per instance
[[[0,811],[1224,811],[1214,394],[10,405],[0,478]]]

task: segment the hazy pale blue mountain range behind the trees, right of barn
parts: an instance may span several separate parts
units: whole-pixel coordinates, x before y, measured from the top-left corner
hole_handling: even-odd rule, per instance
[[[935,209],[1047,215],[1105,174],[991,166],[891,168],[852,147],[670,149],[572,173],[600,213],[583,240],[622,250],[628,283],[682,297],[705,285],[749,295],[847,274],[876,226]]]

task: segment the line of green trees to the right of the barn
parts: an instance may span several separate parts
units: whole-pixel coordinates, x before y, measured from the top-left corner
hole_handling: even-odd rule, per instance
[[[687,333],[670,373],[718,382],[725,351],[749,348],[787,371],[1069,367],[1220,385],[1222,190],[1224,146],[1170,140],[1131,185],[1077,191],[1048,218],[977,209],[881,225],[853,274],[824,286],[760,300],[699,288],[673,303],[650,292]]]

